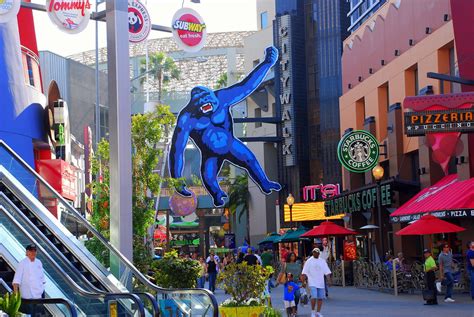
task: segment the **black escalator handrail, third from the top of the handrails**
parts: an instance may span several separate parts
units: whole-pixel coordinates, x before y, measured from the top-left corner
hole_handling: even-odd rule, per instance
[[[0,206],[0,210],[3,210],[4,214],[10,218],[10,221],[15,224],[15,226],[20,230],[30,241],[35,241],[33,237],[16,221],[16,219],[3,207]],[[56,264],[54,259],[43,249],[43,247],[40,244],[36,245],[36,248],[38,251],[41,252],[41,254],[47,258],[48,262],[51,264],[51,267],[59,273],[67,282],[69,286],[71,286],[77,293],[79,293],[83,297],[87,298],[92,298],[92,299],[104,299],[104,300],[110,300],[110,299],[130,299],[135,304],[137,304],[137,310],[140,313],[140,316],[145,317],[145,307],[143,305],[143,302],[141,299],[131,293],[94,293],[94,292],[89,292],[84,290],[81,286],[77,285],[76,282],[59,266]]]

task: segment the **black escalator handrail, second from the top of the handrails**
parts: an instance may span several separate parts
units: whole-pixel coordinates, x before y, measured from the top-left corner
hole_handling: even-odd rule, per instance
[[[48,238],[46,238],[46,236],[43,234],[43,232],[41,232],[36,226],[34,226],[31,221],[18,209],[18,207],[10,200],[10,198],[8,198],[3,192],[0,192],[0,196],[7,202],[11,205],[12,208],[14,208],[15,212],[18,214],[18,216],[20,218],[22,218],[24,220],[24,222],[28,225],[28,229],[29,230],[32,230],[36,233],[36,235],[38,235],[44,243],[47,243],[47,244],[52,244],[51,241],[49,241]],[[56,256],[60,257],[61,260],[64,262],[64,263],[67,263],[67,265],[69,266],[69,269],[72,270],[76,277],[81,279],[81,282],[84,283],[87,287],[89,287],[91,291],[91,293],[97,293],[97,294],[103,294],[104,296],[106,295],[110,295],[110,294],[114,294],[114,293],[109,293],[109,292],[105,292],[103,290],[100,290],[98,288],[96,288],[94,285],[92,285],[91,282],[89,282],[85,277],[84,275],[82,275],[79,270],[70,263],[70,261],[64,256],[64,254],[62,254],[61,252],[59,252],[59,250],[57,250],[56,247],[54,246],[51,246],[51,248],[54,250],[54,252],[56,253]],[[116,294],[119,294],[119,293],[116,293]],[[127,294],[127,293],[124,293],[124,294]],[[148,294],[150,296],[146,296],[147,293],[133,293],[133,294],[140,294],[140,295],[143,295],[144,298],[146,298],[146,300],[149,300],[151,301],[151,305],[153,307],[153,313],[154,313],[154,316],[158,314],[159,310],[158,310],[158,304],[156,303],[156,300],[155,298],[151,295],[151,294]]]

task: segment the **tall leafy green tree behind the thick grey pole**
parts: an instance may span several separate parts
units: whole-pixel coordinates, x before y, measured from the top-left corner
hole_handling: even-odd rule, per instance
[[[142,272],[147,272],[152,261],[151,237],[147,233],[154,223],[154,196],[159,194],[160,183],[165,181],[153,171],[163,157],[159,145],[163,144],[174,122],[174,115],[164,105],[158,105],[153,112],[132,117],[133,261]],[[93,212],[90,222],[107,239],[110,239],[109,161],[109,143],[102,140],[91,160],[92,173],[101,176],[91,184]],[[108,251],[102,243],[92,238],[86,242],[86,247],[106,267],[110,266]]]

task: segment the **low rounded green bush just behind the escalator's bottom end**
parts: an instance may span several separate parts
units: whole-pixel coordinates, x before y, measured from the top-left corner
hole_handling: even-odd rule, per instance
[[[156,284],[165,288],[194,288],[201,271],[198,261],[182,259],[178,252],[166,252],[163,258],[152,264]]]

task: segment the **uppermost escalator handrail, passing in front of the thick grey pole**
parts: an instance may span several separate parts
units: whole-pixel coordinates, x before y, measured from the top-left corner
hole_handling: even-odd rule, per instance
[[[36,173],[34,169],[31,168],[21,157],[18,156],[3,140],[0,140],[0,146],[4,147],[10,155],[12,155],[21,165],[23,165],[24,168],[29,170],[33,176],[35,176],[41,183],[42,185],[46,186],[53,195],[56,196],[57,199],[59,199],[62,204],[65,206],[67,211],[74,216],[78,221],[80,221],[86,228],[89,230],[95,237],[97,237],[102,244],[104,244],[110,251],[112,251],[115,256],[117,256],[124,264],[127,265],[127,267],[130,269],[130,271],[133,272],[133,274],[140,280],[141,283],[143,283],[146,287],[155,290],[157,292],[161,293],[187,293],[190,295],[202,295],[205,294],[207,295],[210,300],[211,304],[214,308],[214,317],[219,316],[219,304],[217,303],[216,297],[214,294],[207,290],[207,289],[198,289],[198,288],[173,288],[173,289],[167,289],[167,288],[162,288],[158,285],[153,284],[150,282],[130,261],[127,259],[123,254],[118,251],[106,238],[104,238],[74,207],[72,207],[61,195],[57,194],[56,190],[48,183],[46,182],[41,175]]]

